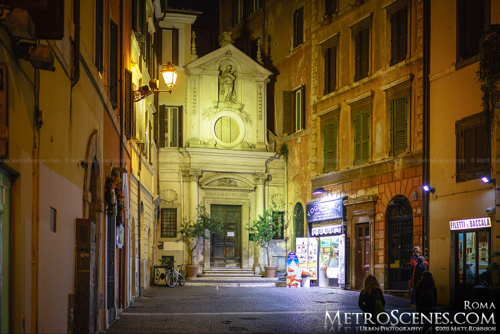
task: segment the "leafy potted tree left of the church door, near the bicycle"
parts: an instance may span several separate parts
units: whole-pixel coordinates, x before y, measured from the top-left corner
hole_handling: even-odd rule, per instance
[[[196,211],[196,220],[188,220],[186,217],[182,217],[182,228],[179,230],[179,233],[184,237],[184,243],[191,259],[190,263],[185,265],[187,277],[196,277],[198,275],[199,264],[194,263],[194,249],[198,245],[199,238],[210,238],[205,235],[205,230],[210,233],[219,233],[222,229],[222,220],[219,217],[210,215],[203,203],[198,203]]]

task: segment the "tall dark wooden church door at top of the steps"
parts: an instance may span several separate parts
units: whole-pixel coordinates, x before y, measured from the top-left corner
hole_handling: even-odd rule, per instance
[[[217,213],[220,208],[221,212]],[[210,267],[240,268],[239,225],[241,224],[240,205],[211,205],[211,214],[222,219],[220,234],[210,237]]]

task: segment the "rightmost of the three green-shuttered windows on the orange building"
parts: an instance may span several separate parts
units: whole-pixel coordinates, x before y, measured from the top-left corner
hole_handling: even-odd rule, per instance
[[[389,155],[396,155],[406,150],[407,105],[407,96],[401,96],[390,101]]]

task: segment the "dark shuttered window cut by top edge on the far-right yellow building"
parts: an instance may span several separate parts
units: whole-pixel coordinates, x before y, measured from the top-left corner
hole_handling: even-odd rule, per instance
[[[458,0],[458,55],[467,59],[479,52],[479,39],[484,33],[484,0]]]

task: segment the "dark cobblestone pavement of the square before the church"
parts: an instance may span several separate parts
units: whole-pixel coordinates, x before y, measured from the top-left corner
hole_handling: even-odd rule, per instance
[[[124,310],[107,333],[337,333],[366,332],[360,324],[328,325],[340,310],[359,312],[359,292],[324,287],[152,286]],[[385,310],[408,312],[409,300],[384,295]],[[443,310],[444,311],[444,310]],[[352,317],[353,322],[355,317]],[[413,326],[413,325],[405,325]],[[386,332],[387,329],[380,331]],[[396,332],[396,331],[392,331]],[[400,332],[410,333],[410,328]],[[416,332],[416,331],[414,331]],[[450,332],[441,330],[441,333]]]

